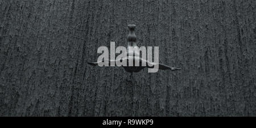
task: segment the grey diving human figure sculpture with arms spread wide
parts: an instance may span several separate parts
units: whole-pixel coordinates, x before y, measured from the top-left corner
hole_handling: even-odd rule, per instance
[[[127,72],[139,72],[141,71],[142,69],[144,69],[145,67],[148,67],[148,68],[154,68],[155,66],[158,66],[158,69],[160,70],[171,70],[171,71],[175,71],[175,70],[180,70],[179,68],[177,67],[170,67],[170,66],[167,66],[167,65],[164,65],[162,63],[154,63],[154,62],[150,62],[148,61],[147,59],[143,59],[139,56],[139,51],[138,50],[129,50],[129,48],[133,47],[133,48],[138,48],[137,46],[137,37],[135,35],[135,27],[136,25],[134,24],[129,24],[128,25],[128,28],[129,28],[129,35],[127,37],[127,49],[128,49],[128,52],[127,52],[127,56],[124,57],[124,58],[121,58],[121,59],[109,59],[109,60],[105,60],[105,61],[98,61],[98,62],[88,62],[89,65],[93,65],[93,66],[97,66],[99,63],[113,63],[113,62],[116,62],[116,61],[126,61],[127,62],[127,65],[126,66],[123,66],[122,67],[125,69],[125,71]],[[133,60],[133,66],[130,66],[129,65],[129,61],[132,61]],[[139,63],[139,66],[135,66],[135,63],[138,62]],[[146,63],[146,65],[143,65],[142,63]]]

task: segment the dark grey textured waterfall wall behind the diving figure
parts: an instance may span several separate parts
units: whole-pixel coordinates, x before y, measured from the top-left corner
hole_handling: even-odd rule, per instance
[[[0,1],[0,116],[256,116],[256,1]],[[93,67],[159,46],[180,71]],[[134,81],[131,81],[134,79]]]

